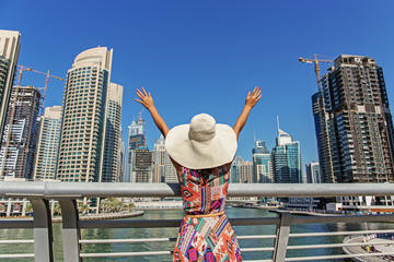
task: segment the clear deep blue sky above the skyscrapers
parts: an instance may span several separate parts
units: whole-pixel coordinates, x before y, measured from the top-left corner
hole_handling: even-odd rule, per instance
[[[317,159],[311,95],[313,53],[374,58],[393,104],[393,0],[1,0],[0,28],[20,31],[20,63],[65,76],[89,48],[114,49],[112,81],[124,86],[123,129],[142,107],[135,90],[151,91],[167,126],[199,112],[233,124],[247,91],[263,98],[240,136],[239,155],[252,158],[254,135],[275,144],[280,127],[301,142],[303,163]],[[324,72],[324,71],[323,71]],[[25,73],[23,84],[44,85]],[[61,105],[63,85],[50,81],[46,106]],[[393,107],[391,106],[393,111]],[[148,145],[160,133],[143,112]]]

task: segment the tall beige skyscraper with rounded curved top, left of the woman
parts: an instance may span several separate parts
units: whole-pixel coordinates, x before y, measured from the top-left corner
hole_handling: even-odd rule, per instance
[[[88,49],[67,72],[57,168],[61,181],[102,179],[112,53],[106,47]]]

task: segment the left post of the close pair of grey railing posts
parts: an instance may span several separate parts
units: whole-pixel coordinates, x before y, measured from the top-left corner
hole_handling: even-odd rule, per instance
[[[34,212],[34,257],[36,262],[54,262],[54,235],[49,201],[30,198]]]

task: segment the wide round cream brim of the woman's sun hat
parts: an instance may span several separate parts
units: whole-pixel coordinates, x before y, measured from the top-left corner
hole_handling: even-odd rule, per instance
[[[192,169],[222,166],[233,160],[237,142],[234,130],[217,123],[216,134],[209,141],[198,142],[188,136],[189,124],[171,129],[165,138],[165,148],[179,165]]]

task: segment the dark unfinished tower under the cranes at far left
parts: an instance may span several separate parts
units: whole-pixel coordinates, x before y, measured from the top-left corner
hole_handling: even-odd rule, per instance
[[[39,92],[13,86],[1,138],[0,180],[32,179],[38,134]]]

